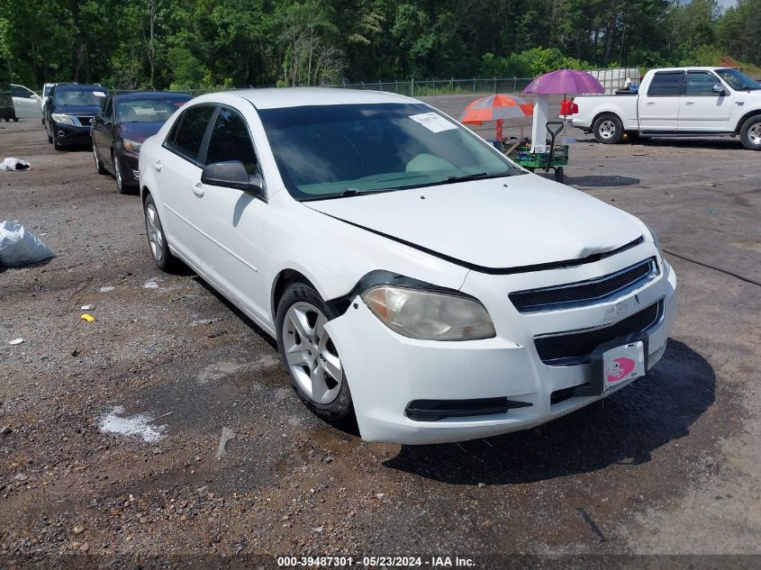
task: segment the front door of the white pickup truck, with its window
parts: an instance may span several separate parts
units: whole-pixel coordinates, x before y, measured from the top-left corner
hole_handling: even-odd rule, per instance
[[[714,86],[724,95],[713,92]],[[687,71],[684,95],[679,104],[678,131],[725,132],[732,113],[735,95],[710,71]]]

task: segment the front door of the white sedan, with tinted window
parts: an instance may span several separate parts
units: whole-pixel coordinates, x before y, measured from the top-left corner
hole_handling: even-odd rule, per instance
[[[220,107],[203,156],[204,165],[238,160],[249,176],[262,174],[246,119],[230,106]],[[198,200],[204,209],[198,228],[206,240],[205,271],[228,294],[267,321],[269,292],[259,273],[267,202],[236,188],[202,184],[200,176],[198,185],[202,193]]]

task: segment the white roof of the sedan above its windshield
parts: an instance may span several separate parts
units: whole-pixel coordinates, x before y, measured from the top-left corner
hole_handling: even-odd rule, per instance
[[[196,97],[199,103],[220,102],[229,97],[249,101],[257,109],[278,109],[283,107],[303,107],[332,104],[383,104],[418,103],[410,97],[385,93],[383,91],[362,91],[331,87],[278,87],[269,89],[239,89],[223,91]]]

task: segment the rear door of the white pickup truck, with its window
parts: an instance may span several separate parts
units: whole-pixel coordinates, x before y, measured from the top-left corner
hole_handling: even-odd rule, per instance
[[[675,132],[684,71],[657,71],[647,93],[639,94],[639,130]]]

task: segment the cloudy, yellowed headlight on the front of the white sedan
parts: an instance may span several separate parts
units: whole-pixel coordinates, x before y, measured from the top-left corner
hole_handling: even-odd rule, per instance
[[[378,319],[411,339],[473,340],[496,336],[484,305],[475,299],[378,285],[361,294]]]

